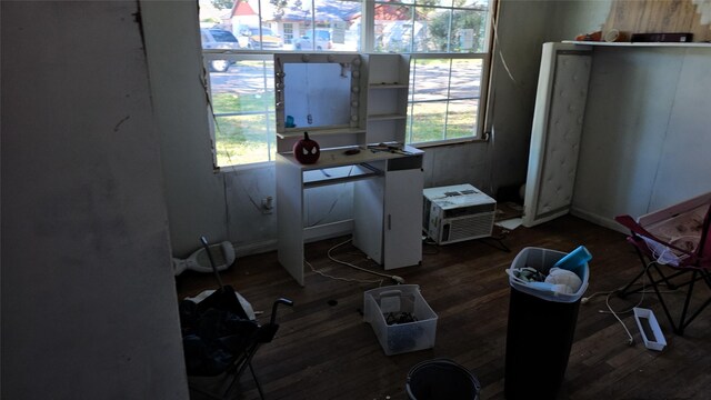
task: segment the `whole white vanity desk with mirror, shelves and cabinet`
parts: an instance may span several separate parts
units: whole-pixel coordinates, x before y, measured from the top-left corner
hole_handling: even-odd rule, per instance
[[[304,223],[304,193],[323,186],[352,182],[352,219],[341,222],[353,246],[385,270],[421,262],[424,152],[402,144],[408,82],[407,56],[274,56],[278,258],[299,284],[303,243],[331,228]],[[320,144],[316,163],[292,153],[304,131]]]

